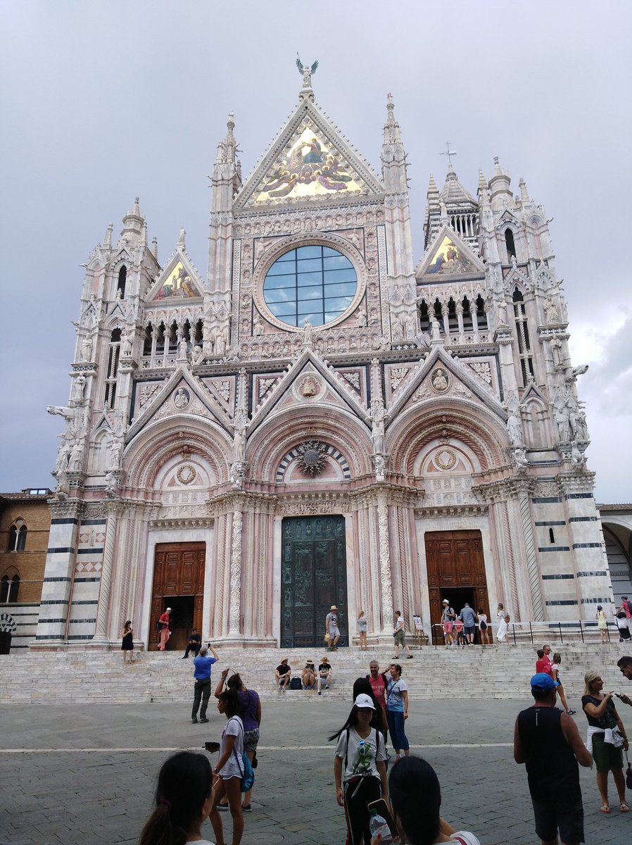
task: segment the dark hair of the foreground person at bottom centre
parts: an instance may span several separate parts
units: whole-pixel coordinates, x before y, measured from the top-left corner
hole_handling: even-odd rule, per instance
[[[427,760],[402,757],[390,770],[390,806],[411,845],[432,845],[439,836],[441,788]]]

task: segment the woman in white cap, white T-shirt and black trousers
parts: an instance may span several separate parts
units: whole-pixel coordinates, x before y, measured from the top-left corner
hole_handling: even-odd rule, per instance
[[[377,728],[371,728],[374,711],[371,696],[361,693],[345,724],[330,736],[330,742],[338,740],[334,757],[335,799],[345,808],[348,845],[369,845],[367,805],[386,799],[389,792],[384,736]]]

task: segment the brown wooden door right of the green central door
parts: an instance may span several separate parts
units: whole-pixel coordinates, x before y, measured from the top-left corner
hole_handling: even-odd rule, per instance
[[[462,607],[461,602],[470,602],[475,612],[481,608],[489,619],[481,532],[427,532],[424,539],[432,623],[439,624],[441,621],[444,598],[448,599],[456,613]]]

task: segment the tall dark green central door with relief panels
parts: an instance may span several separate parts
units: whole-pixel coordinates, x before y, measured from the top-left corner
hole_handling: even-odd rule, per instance
[[[291,517],[281,536],[281,648],[324,647],[332,604],[348,646],[344,516]]]

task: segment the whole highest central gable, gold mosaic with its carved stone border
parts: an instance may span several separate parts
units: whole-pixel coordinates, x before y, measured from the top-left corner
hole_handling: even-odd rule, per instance
[[[379,177],[312,101],[302,101],[240,194],[237,209],[383,194]]]

